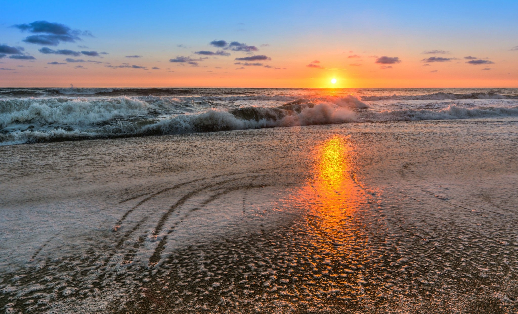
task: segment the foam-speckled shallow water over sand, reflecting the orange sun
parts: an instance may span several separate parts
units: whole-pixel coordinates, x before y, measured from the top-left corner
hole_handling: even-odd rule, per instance
[[[0,147],[7,312],[516,312],[518,120]]]

